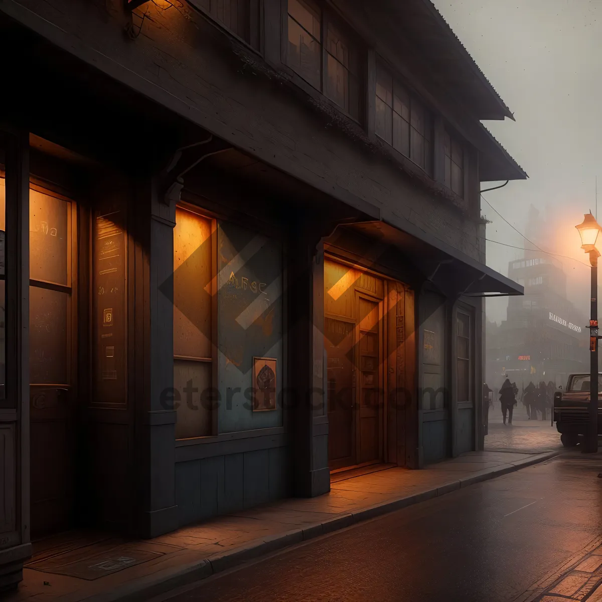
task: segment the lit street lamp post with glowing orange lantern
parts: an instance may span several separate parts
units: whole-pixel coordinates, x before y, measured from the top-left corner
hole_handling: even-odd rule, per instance
[[[581,248],[589,254],[592,266],[592,299],[589,318],[589,420],[585,435],[584,452],[598,451],[598,257],[596,242],[600,235],[600,225],[590,211],[583,217],[583,222],[575,226],[581,236]]]

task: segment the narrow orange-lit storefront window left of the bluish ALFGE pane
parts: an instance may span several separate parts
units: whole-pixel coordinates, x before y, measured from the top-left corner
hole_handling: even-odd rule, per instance
[[[210,219],[176,208],[173,230],[173,386],[176,439],[213,434]]]

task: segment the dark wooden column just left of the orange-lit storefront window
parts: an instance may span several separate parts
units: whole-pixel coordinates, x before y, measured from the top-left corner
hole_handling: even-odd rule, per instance
[[[177,527],[175,502],[176,412],[164,407],[164,391],[173,387],[173,228],[176,202],[166,204],[155,182],[143,187],[138,209],[143,241],[137,278],[137,352],[144,350],[137,393],[137,441],[140,445],[140,532],[154,537]],[[138,271],[138,270],[137,270]],[[139,285],[138,285],[139,282]],[[140,288],[138,288],[138,286]]]

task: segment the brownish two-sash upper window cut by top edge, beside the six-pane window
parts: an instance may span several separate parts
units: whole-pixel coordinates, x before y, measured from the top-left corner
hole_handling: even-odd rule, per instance
[[[287,64],[353,119],[359,119],[358,49],[310,0],[288,0]]]

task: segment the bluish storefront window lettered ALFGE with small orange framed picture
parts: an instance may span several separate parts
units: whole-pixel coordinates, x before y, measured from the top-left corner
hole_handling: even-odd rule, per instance
[[[219,433],[282,426],[282,246],[217,229]]]

